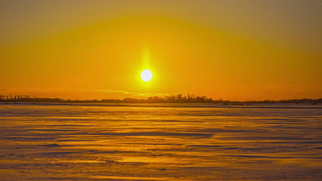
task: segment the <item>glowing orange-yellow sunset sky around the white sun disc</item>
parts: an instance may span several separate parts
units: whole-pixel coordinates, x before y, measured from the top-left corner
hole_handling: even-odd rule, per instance
[[[0,95],[321,98],[321,17],[321,0],[1,0]]]

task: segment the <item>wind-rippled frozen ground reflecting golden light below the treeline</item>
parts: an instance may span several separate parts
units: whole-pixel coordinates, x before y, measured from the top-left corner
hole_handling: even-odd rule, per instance
[[[322,180],[322,106],[0,104],[0,180]]]

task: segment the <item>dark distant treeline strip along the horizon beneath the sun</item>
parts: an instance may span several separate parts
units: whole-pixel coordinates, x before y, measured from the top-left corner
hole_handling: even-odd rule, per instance
[[[166,97],[149,97],[147,99],[125,98],[125,99],[92,99],[92,100],[71,100],[59,98],[39,98],[29,95],[0,95],[0,102],[66,102],[66,103],[181,103],[181,104],[224,104],[224,105],[244,105],[244,104],[319,104],[322,99],[288,99],[288,100],[264,100],[264,101],[230,101],[223,99],[212,99],[206,96],[195,95],[172,95]]]

